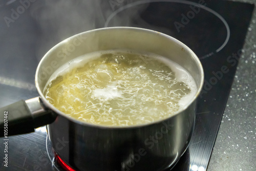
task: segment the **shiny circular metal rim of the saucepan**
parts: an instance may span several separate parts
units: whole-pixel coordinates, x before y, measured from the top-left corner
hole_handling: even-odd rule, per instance
[[[152,34],[157,34],[159,36],[164,36],[172,41],[175,42],[175,44],[178,44],[180,47],[186,49],[186,51],[189,52],[189,54],[191,55],[191,57],[193,57],[193,59],[196,61],[199,69],[200,69],[200,77],[201,77],[201,81],[200,81],[200,84],[198,86],[198,90],[195,94],[195,96],[193,98],[191,98],[189,100],[189,102],[187,102],[186,105],[183,106],[183,108],[181,108],[179,111],[175,112],[172,116],[170,117],[167,117],[167,118],[163,118],[163,119],[159,119],[159,120],[156,120],[156,121],[153,121],[153,122],[149,122],[149,123],[143,123],[143,124],[136,124],[136,125],[129,125],[129,126],[106,126],[106,125],[97,125],[97,124],[93,124],[93,123],[89,123],[89,122],[84,122],[84,121],[80,121],[80,120],[77,120],[73,117],[70,117],[68,116],[67,114],[59,111],[57,108],[55,108],[44,96],[44,94],[42,93],[41,89],[40,89],[40,86],[39,86],[39,83],[38,83],[38,79],[39,79],[39,70],[42,66],[42,63],[44,62],[44,60],[49,56],[49,54],[51,54],[53,51],[56,50],[57,47],[60,47],[62,46],[63,44],[66,44],[67,40],[69,39],[72,39],[72,38],[75,38],[75,37],[78,37],[82,34],[89,34],[91,32],[97,32],[97,31],[103,31],[103,30],[109,30],[109,29],[131,29],[131,30],[135,30],[135,31],[145,31],[145,32],[148,32],[148,33],[152,33]],[[143,126],[148,126],[148,125],[153,125],[153,124],[157,124],[157,123],[160,123],[160,122],[163,122],[163,121],[166,121],[176,115],[179,115],[180,113],[184,112],[188,106],[190,106],[196,99],[197,97],[199,96],[201,90],[202,90],[202,87],[203,87],[203,83],[204,83],[204,72],[203,72],[203,67],[202,67],[202,64],[199,60],[199,58],[197,57],[197,55],[190,49],[188,48],[185,44],[183,44],[181,41],[179,41],[178,39],[172,37],[172,36],[169,36],[169,35],[166,35],[164,33],[160,33],[160,32],[157,32],[157,31],[154,31],[154,30],[149,30],[149,29],[144,29],[144,28],[136,28],[136,27],[108,27],[108,28],[100,28],[100,29],[94,29],[94,30],[89,30],[89,31],[86,31],[86,32],[82,32],[82,33],[79,33],[79,34],[76,34],[76,35],[73,35],[65,40],[62,40],[60,41],[57,45],[55,45],[54,47],[52,47],[45,55],[44,57],[42,57],[42,59],[40,60],[38,66],[37,66],[37,69],[36,69],[36,73],[35,73],[35,86],[36,86],[36,89],[40,95],[40,99],[42,100],[42,102],[44,103],[44,105],[49,108],[49,110],[52,110],[53,112],[55,112],[56,114],[60,115],[60,116],[63,116],[67,119],[69,119],[70,121],[72,122],[75,122],[77,124],[80,124],[80,125],[85,125],[85,126],[92,126],[92,127],[98,127],[99,129],[135,129],[135,128],[138,128],[138,127],[143,127]]]

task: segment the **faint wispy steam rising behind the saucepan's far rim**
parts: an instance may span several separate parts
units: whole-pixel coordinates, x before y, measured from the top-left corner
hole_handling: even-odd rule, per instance
[[[37,1],[31,6],[31,15],[35,18],[40,31],[37,59],[59,41],[72,35],[104,27],[106,19],[117,9],[134,1],[125,0],[86,0],[86,1]],[[115,17],[112,25],[127,26],[136,11],[125,16]]]

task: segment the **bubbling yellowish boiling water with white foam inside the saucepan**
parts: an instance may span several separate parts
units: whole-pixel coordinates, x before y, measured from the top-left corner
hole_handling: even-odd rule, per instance
[[[75,58],[53,74],[44,95],[78,120],[126,126],[172,116],[196,90],[193,78],[177,63],[123,50]]]

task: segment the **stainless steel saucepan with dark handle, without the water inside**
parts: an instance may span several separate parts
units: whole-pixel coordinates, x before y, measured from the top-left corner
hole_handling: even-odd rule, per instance
[[[131,49],[155,53],[177,62],[194,78],[197,93],[174,116],[133,126],[100,126],[60,112],[42,91],[50,76],[75,57],[87,53]],[[202,65],[187,46],[168,35],[141,28],[113,27],[83,32],[61,41],[41,59],[35,75],[39,97],[0,109],[1,134],[33,132],[47,125],[57,155],[75,170],[164,170],[185,152],[195,124],[196,98],[204,80]]]

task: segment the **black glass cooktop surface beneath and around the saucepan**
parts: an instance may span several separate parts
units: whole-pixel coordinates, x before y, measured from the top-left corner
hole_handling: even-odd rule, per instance
[[[253,5],[206,0],[111,2],[101,4],[109,6],[112,11],[102,13],[104,22],[96,22],[96,28],[133,26],[156,30],[184,42],[200,58],[205,82],[198,98],[194,135],[187,151],[168,170],[206,170],[242,53]],[[39,46],[37,40],[42,38],[43,31],[31,16],[37,2],[34,3],[31,1],[31,7],[24,7],[24,12],[16,16],[12,16],[12,9],[15,11],[21,6],[19,2],[6,1],[0,6],[3,18],[0,25],[0,106],[38,96],[34,74],[39,59],[35,54]],[[127,14],[130,15],[129,22]],[[118,18],[122,19],[117,23]],[[1,161],[1,170],[63,170],[56,163],[45,126],[36,129],[35,133],[8,139],[8,167]],[[3,160],[6,154],[4,138],[0,138],[0,142]]]

